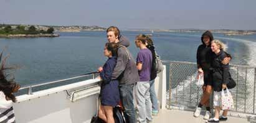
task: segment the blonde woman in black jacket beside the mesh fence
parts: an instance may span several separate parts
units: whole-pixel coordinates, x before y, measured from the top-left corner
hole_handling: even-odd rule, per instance
[[[213,40],[211,43],[212,52],[214,55],[211,61],[212,67],[212,85],[214,89],[214,110],[215,116],[209,119],[207,122],[219,122],[227,121],[227,111],[224,110],[222,116],[219,117],[219,112],[221,109],[221,91],[222,88],[227,88],[227,83],[229,82],[229,64],[223,64],[221,61],[227,57],[225,49],[227,47],[219,40]]]

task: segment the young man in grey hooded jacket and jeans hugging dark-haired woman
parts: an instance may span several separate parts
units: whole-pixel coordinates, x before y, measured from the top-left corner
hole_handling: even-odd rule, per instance
[[[117,62],[111,79],[119,80],[120,99],[125,108],[126,122],[134,123],[136,119],[135,106],[133,104],[133,87],[136,82],[140,81],[140,77],[136,68],[135,59],[133,59],[133,56],[127,49],[130,42],[127,38],[120,35],[120,30],[114,26],[108,27],[107,37],[109,42],[119,43]]]

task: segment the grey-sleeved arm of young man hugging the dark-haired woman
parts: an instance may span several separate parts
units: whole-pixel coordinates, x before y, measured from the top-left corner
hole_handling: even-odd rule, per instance
[[[119,48],[117,55],[118,57],[117,57],[116,66],[111,75],[112,80],[117,79],[122,74],[122,72],[125,70],[126,64],[128,64],[128,61],[129,61],[124,48]]]

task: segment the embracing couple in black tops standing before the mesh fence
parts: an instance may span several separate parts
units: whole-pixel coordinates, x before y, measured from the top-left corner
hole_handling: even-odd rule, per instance
[[[203,75],[204,85],[202,85],[203,95],[194,112],[194,116],[199,117],[202,106],[205,106],[206,114],[204,119],[207,120],[206,122],[227,121],[228,110],[225,109],[222,116],[219,115],[219,112],[222,108],[221,91],[227,88],[227,83],[230,81],[229,61],[231,56],[225,52],[227,46],[220,40],[214,40],[210,31],[202,34],[201,41],[202,45],[197,49],[196,58],[198,75]],[[212,90],[214,91],[215,116],[210,119],[209,98]]]

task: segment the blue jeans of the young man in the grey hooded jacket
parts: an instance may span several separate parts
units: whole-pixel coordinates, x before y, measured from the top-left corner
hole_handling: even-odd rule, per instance
[[[125,108],[125,121],[135,123],[135,107],[133,104],[133,87],[134,85],[120,85],[120,99]]]

